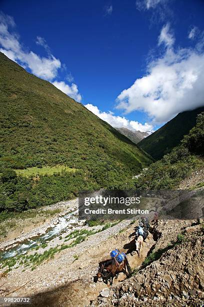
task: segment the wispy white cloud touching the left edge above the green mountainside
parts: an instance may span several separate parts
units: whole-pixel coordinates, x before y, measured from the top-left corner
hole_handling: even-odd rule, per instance
[[[60,61],[51,54],[48,57],[40,57],[32,51],[23,50],[18,35],[9,31],[9,28],[14,26],[12,17],[0,14],[0,51],[24,68],[29,68],[37,77],[52,80],[61,66]],[[40,44],[39,39],[37,42]]]

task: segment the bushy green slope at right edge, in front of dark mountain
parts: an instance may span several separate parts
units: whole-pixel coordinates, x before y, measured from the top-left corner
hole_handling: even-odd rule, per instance
[[[204,112],[197,116],[197,122],[180,145],[170,154],[150,165],[134,185],[138,189],[173,189],[192,170],[203,168],[204,161]]]

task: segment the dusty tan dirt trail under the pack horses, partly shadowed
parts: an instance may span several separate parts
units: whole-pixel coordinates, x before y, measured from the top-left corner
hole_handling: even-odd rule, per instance
[[[133,237],[128,238],[133,234],[134,227],[136,224],[131,225],[127,230],[119,233],[109,240],[103,242],[99,248],[93,247],[89,249],[88,254],[90,259],[87,259],[87,254],[79,257],[78,260],[74,261],[73,265],[70,267],[71,270],[80,270],[82,274],[86,271],[85,276],[81,276],[80,271],[78,271],[79,277],[77,280],[68,282],[61,287],[57,287],[53,290],[49,290],[42,293],[37,293],[32,297],[34,306],[84,306],[88,305],[92,300],[94,300],[100,291],[104,288],[111,288],[111,286],[104,284],[103,282],[97,281],[93,282],[93,276],[96,273],[97,263],[100,260],[109,258],[108,252],[114,248],[119,248],[120,251],[127,253],[128,262],[131,269],[138,267],[147,255],[147,252],[154,244],[152,235],[146,239],[143,244],[143,249],[141,257],[130,251],[134,249],[134,239]],[[79,267],[81,269],[79,269]],[[113,285],[120,283],[125,279],[125,275],[120,273],[118,279],[113,280]],[[81,299],[82,298],[82,299]]]

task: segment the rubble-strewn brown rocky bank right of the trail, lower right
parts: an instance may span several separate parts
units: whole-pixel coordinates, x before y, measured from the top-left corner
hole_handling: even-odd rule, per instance
[[[180,241],[173,244],[181,232]],[[158,221],[154,235],[154,261],[114,285],[106,297],[98,295],[93,306],[203,306],[203,224]]]

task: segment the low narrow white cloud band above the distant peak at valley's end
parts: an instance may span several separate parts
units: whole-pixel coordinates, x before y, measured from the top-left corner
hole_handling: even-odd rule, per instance
[[[115,116],[114,113],[110,111],[101,112],[97,106],[92,105],[90,103],[85,104],[85,107],[89,111],[97,115],[99,118],[109,123],[112,127],[115,127],[115,128],[125,127],[130,130],[139,130],[139,131],[145,131],[145,132],[153,131],[152,125],[146,122],[144,124],[141,124],[138,121],[128,120],[127,118],[121,117],[121,116]]]

